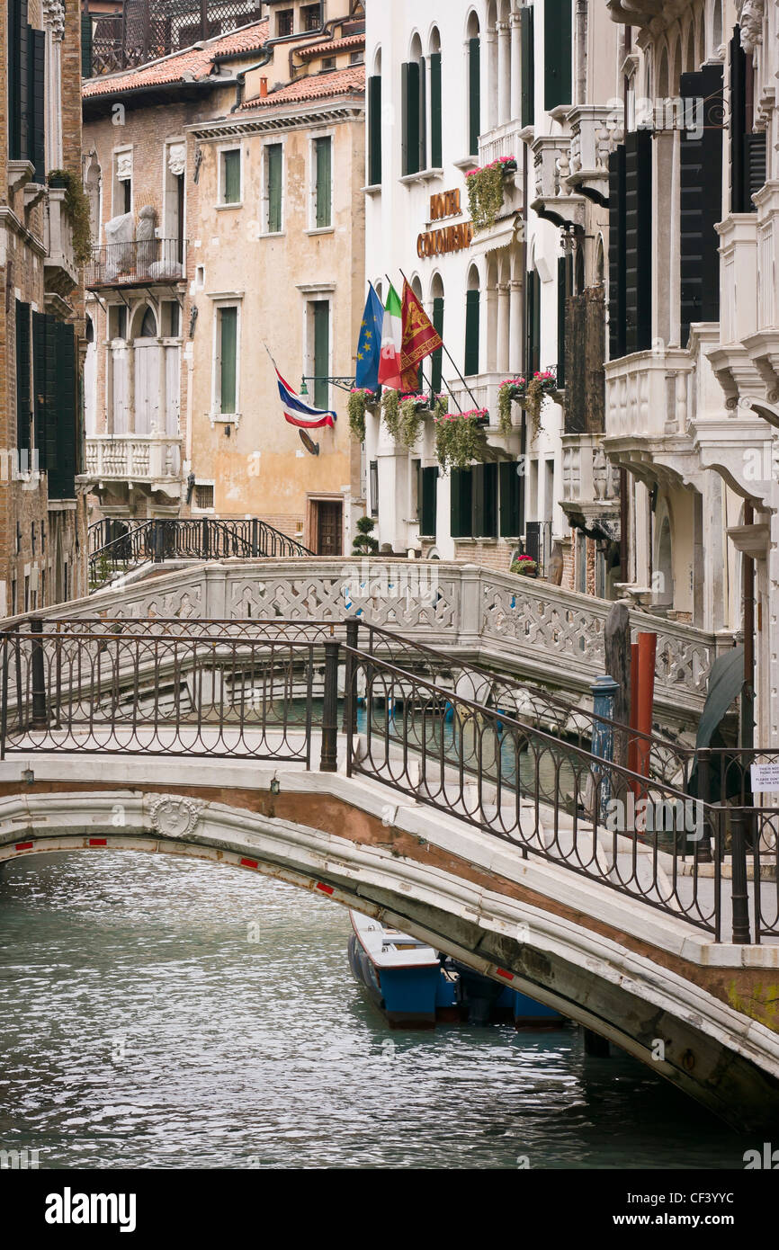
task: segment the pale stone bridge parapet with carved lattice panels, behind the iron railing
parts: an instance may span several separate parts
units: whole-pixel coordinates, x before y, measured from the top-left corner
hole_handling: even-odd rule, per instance
[[[43,618],[105,615],[235,620],[364,621],[499,664],[579,695],[604,671],[611,602],[550,582],[445,561],[373,559],[224,560],[154,566],[151,576],[113,586]],[[700,714],[711,662],[730,635],[631,610],[634,634],[658,635],[655,706],[665,719]]]

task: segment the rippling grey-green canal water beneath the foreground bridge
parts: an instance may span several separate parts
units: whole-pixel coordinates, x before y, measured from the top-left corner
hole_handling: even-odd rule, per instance
[[[743,1168],[755,1145],[579,1030],[390,1031],[344,910],[211,864],[0,872],[0,1149],[41,1168]]]

